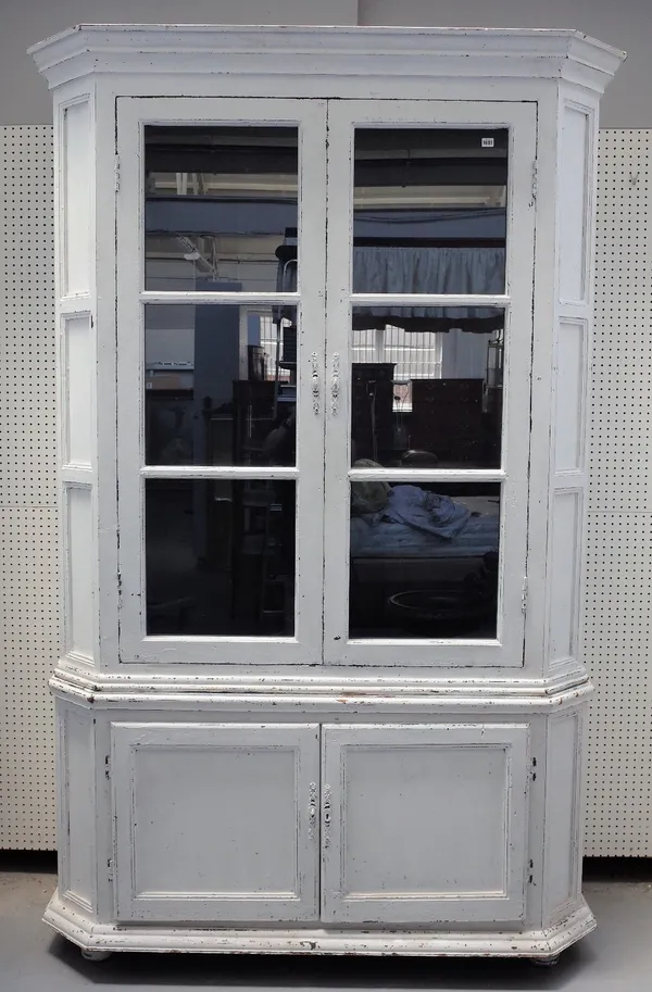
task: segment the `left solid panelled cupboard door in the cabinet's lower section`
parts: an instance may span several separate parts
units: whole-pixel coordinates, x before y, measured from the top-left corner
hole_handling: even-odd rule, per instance
[[[112,725],[120,920],[318,919],[316,725]]]

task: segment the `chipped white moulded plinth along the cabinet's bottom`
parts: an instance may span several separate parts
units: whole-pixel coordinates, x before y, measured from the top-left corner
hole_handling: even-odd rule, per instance
[[[595,929],[579,908],[544,930],[396,931],[288,929],[227,930],[199,927],[115,926],[95,922],[54,893],[45,921],[84,951],[197,952],[208,954],[369,954],[431,957],[530,957],[554,959]]]

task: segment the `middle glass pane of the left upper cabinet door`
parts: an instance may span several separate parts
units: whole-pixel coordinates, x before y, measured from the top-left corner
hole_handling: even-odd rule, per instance
[[[296,309],[145,309],[148,465],[294,465]]]

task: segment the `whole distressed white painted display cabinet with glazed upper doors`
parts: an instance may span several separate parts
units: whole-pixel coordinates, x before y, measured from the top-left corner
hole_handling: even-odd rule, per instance
[[[528,956],[580,891],[599,97],[568,30],[82,26],[59,890],[87,956]]]

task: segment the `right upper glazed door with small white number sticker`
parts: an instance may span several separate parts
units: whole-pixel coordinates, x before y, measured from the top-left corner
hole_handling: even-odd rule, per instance
[[[519,666],[536,105],[328,108],[325,658]]]

